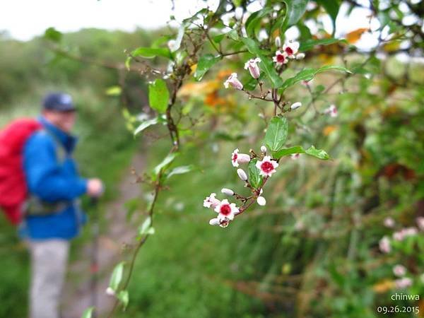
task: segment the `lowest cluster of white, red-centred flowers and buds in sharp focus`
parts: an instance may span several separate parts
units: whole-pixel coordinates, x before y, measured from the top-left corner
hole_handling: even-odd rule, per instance
[[[240,206],[237,206],[235,203],[230,203],[228,199],[216,199],[216,193],[212,193],[210,196],[206,197],[206,199],[204,199],[204,207],[211,208],[218,213],[216,218],[212,218],[209,221],[210,225],[220,225],[221,228],[226,228],[230,221],[234,220],[235,216],[245,211],[245,209],[252,204],[252,200],[256,199],[259,206],[266,205],[266,199],[262,196],[263,187],[266,180],[276,172],[276,168],[278,167],[277,161],[273,160],[270,155],[266,155],[266,152],[267,149],[265,146],[261,146],[260,155],[257,155],[252,150],[250,151],[250,155],[247,153],[240,153],[238,148],[232,151],[231,164],[233,167],[238,168],[238,177],[245,182],[245,187],[249,188],[252,193],[250,196],[242,196],[241,194],[235,193],[232,189],[221,189],[223,194],[233,196],[236,200],[240,201]],[[252,186],[245,170],[239,167],[241,164],[249,163],[253,159],[257,160],[254,166],[258,169],[259,175],[263,177],[263,181],[257,187]]]

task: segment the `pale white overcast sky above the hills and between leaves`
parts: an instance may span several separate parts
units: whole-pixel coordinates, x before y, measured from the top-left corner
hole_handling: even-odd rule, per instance
[[[208,0],[208,5],[216,8],[217,2]],[[42,35],[49,27],[61,32],[81,28],[126,31],[136,27],[158,28],[167,23],[171,14],[182,20],[204,6],[199,0],[175,0],[175,11],[172,12],[170,0],[0,0],[0,30],[7,30],[15,39],[30,40]],[[258,4],[252,11],[259,8]],[[343,11],[346,12],[341,8],[337,19],[336,36],[369,26],[366,10],[355,9],[348,19],[343,16]],[[324,18],[323,22],[331,32],[329,18]],[[373,42],[375,38],[363,35],[358,46],[367,48]]]

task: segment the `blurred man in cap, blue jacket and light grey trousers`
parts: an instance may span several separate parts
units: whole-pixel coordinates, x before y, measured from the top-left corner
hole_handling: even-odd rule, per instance
[[[23,150],[30,195],[21,232],[31,254],[30,317],[58,318],[69,240],[78,235],[86,219],[77,199],[83,194],[100,196],[102,182],[83,179],[71,156],[76,146],[71,135],[76,121],[71,96],[47,95],[38,120],[43,129],[30,136]]]

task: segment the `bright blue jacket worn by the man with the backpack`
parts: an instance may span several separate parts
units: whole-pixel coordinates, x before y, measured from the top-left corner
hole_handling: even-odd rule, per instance
[[[87,180],[78,175],[76,163],[71,158],[77,139],[44,117],[40,117],[39,121],[44,129],[30,136],[23,151],[28,190],[43,201],[69,201],[69,205],[56,213],[26,216],[20,233],[30,240],[70,240],[78,235],[86,221],[78,204],[71,203],[87,191]],[[64,158],[58,158],[59,146],[63,146]]]

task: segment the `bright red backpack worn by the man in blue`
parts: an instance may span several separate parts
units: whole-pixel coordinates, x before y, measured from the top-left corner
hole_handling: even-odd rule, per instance
[[[25,141],[42,125],[35,119],[17,119],[0,131],[0,208],[11,223],[22,220],[22,207],[28,196],[23,172]]]

